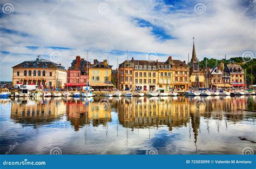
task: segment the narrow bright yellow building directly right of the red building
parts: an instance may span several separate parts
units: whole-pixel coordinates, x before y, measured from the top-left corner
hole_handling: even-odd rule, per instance
[[[99,62],[94,60],[93,65],[89,67],[89,83],[93,89],[106,89],[112,87],[111,69],[112,65],[107,63],[107,60]]]

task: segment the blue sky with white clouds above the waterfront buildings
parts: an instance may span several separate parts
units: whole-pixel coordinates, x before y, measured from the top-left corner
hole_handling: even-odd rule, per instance
[[[256,56],[256,0],[0,2],[0,81],[24,60],[69,66],[77,55],[187,60],[193,37],[199,59]],[[149,54],[150,53],[150,54]],[[255,58],[255,57],[254,57]]]

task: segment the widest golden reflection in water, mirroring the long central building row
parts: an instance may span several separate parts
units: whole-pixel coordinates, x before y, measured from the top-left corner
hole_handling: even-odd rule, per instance
[[[189,121],[188,104],[186,100],[152,99],[148,97],[120,100],[118,116],[120,124],[125,127],[147,127],[167,125],[184,126]]]

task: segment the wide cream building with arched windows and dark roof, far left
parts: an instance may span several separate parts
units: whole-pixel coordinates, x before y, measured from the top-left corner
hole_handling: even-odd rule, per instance
[[[61,64],[41,59],[24,61],[14,67],[12,85],[36,84],[47,87],[64,87],[66,83],[66,70]]]

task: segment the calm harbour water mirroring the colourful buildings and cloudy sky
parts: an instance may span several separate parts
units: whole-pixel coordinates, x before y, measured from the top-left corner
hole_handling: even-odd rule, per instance
[[[158,147],[159,153],[197,153],[208,138],[216,143],[214,150],[205,153],[239,153],[223,150],[230,139],[235,146],[255,147],[255,96],[241,97],[118,97],[118,98],[21,98],[1,99],[0,126],[1,153],[14,141],[24,143],[13,153],[47,153],[48,145],[38,150],[29,149],[25,138],[48,138],[51,144],[60,144],[66,153],[96,153],[104,151],[109,141],[123,143],[110,153],[142,153],[143,147]],[[10,117],[10,119],[8,118]],[[55,124],[53,126],[52,124]],[[21,125],[22,128],[17,125]],[[36,134],[30,126],[36,129]],[[46,128],[45,128],[46,127]],[[43,132],[38,132],[42,128]],[[12,130],[13,129],[13,130]],[[41,130],[41,131],[42,131]],[[135,133],[134,131],[137,131]],[[13,134],[7,131],[15,131]],[[50,134],[62,133],[62,140],[52,142]],[[75,134],[76,133],[76,134]],[[74,135],[75,134],[75,135]],[[72,136],[72,139],[70,138]],[[221,137],[220,137],[221,136]],[[242,142],[238,137],[242,136]],[[224,138],[226,137],[226,138]],[[104,138],[104,139],[103,139]],[[154,140],[161,138],[157,143]],[[71,139],[77,144],[66,142]],[[91,141],[86,142],[87,139]],[[219,140],[217,140],[219,139]],[[250,140],[247,141],[246,140]],[[96,143],[96,142],[97,143]],[[172,141],[163,144],[163,141]],[[179,141],[179,142],[176,142]],[[244,142],[245,141],[245,142]],[[86,142],[86,147],[82,143]],[[174,142],[174,143],[173,143]],[[193,144],[191,144],[193,143]],[[37,143],[32,143],[37,144]],[[124,145],[123,145],[124,144]],[[180,145],[181,144],[181,145]],[[72,146],[73,148],[70,148]],[[207,148],[204,148],[207,149]],[[136,151],[134,151],[136,150]]]

